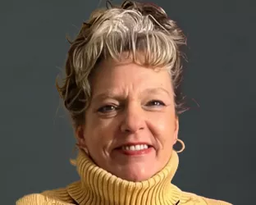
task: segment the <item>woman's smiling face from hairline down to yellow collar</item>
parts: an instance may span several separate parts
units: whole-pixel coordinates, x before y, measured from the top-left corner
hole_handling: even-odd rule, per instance
[[[178,129],[166,69],[100,63],[85,125],[76,132],[98,166],[123,180],[148,180],[167,164]]]

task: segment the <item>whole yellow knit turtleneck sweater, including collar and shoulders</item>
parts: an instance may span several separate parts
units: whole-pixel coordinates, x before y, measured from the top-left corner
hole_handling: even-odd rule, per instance
[[[16,205],[231,205],[182,192],[172,185],[178,163],[177,153],[172,152],[162,171],[149,180],[130,182],[104,171],[80,151],[76,159],[80,181],[66,188],[26,195]]]

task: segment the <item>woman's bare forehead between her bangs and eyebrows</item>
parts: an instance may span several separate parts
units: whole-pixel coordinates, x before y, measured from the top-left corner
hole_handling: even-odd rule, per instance
[[[92,89],[112,87],[170,87],[171,76],[167,67],[139,65],[129,58],[122,61],[107,59],[100,62],[91,81]]]

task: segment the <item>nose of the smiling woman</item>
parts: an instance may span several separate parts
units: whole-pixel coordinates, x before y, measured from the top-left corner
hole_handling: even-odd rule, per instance
[[[123,121],[121,121],[121,132],[137,133],[144,130],[146,123],[144,121],[144,113],[139,105],[130,105],[124,111]]]

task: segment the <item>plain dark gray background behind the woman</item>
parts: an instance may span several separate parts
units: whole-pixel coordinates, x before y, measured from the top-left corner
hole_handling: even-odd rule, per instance
[[[186,149],[174,183],[254,204],[256,2],[154,2],[188,35],[184,93],[191,108],[181,115]],[[66,34],[74,37],[96,7],[85,0],[1,2],[1,204],[78,179],[69,163],[73,131],[54,84]]]

